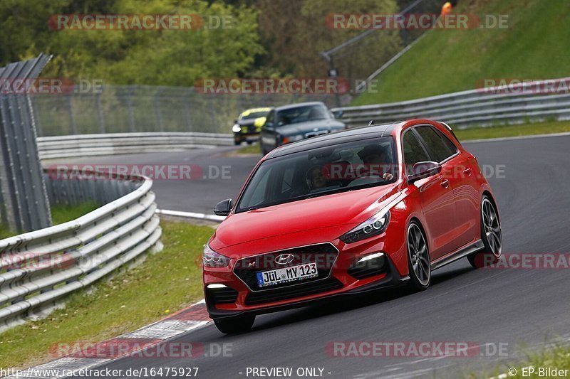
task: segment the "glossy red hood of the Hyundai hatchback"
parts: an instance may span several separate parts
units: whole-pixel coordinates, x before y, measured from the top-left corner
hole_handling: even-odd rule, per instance
[[[346,225],[342,232],[345,233],[377,213],[397,195],[397,185],[390,184],[231,214],[217,228],[210,247],[221,250],[252,240],[337,225]],[[319,240],[324,237],[321,233],[316,234]]]

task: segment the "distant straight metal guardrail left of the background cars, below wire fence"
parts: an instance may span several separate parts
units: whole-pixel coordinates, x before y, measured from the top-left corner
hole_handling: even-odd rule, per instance
[[[181,151],[207,145],[233,144],[232,134],[201,132],[80,134],[38,137],[40,159]]]

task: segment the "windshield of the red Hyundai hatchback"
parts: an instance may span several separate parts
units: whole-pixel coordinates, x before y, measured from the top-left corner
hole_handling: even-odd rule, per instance
[[[264,161],[247,183],[236,212],[393,183],[392,137],[299,151]]]

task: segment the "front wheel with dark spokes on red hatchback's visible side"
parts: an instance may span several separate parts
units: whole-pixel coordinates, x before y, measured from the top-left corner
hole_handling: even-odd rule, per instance
[[[425,235],[420,224],[416,221],[412,221],[408,226],[406,242],[408,245],[408,269],[410,271],[408,286],[413,292],[420,292],[430,287],[432,269]]]

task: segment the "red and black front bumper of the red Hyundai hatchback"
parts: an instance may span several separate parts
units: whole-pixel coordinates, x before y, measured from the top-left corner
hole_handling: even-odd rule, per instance
[[[382,235],[378,237],[383,240]],[[400,242],[394,242],[402,246]],[[405,284],[409,279],[407,272],[400,274],[402,269],[398,269],[394,262],[395,260],[398,265],[403,265],[400,251],[393,252],[391,255],[384,253],[385,261],[380,272],[364,275],[354,272],[353,267],[358,258],[379,252],[378,247],[385,246],[385,243],[378,244],[378,240],[373,238],[372,241],[363,242],[356,248],[353,247],[353,250],[358,250],[356,253],[336,250],[338,257],[335,258],[328,276],[323,276],[314,282],[298,282],[298,284],[284,285],[274,289],[252,290],[251,283],[248,285],[235,274],[234,266],[237,262],[230,264],[232,269],[228,269],[229,272],[223,272],[223,270],[220,272],[220,269],[204,269],[204,298],[209,316],[212,319],[222,319],[266,314],[321,304],[343,297],[368,294],[379,289]],[[407,260],[404,260],[407,265]],[[208,284],[223,284],[225,289],[215,292],[217,290],[207,288]],[[294,289],[295,285],[298,286],[297,289]],[[293,292],[291,289],[294,289],[294,293],[291,293]],[[264,294],[269,294],[266,301],[264,301]],[[279,298],[280,294],[283,294],[283,298]]]

